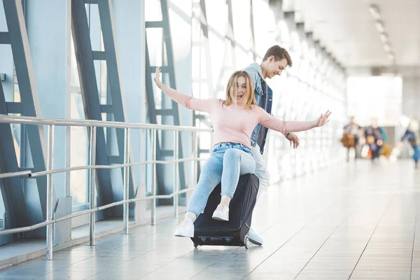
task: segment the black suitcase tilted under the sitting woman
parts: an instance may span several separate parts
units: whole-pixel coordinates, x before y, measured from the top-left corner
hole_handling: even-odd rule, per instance
[[[239,177],[235,194],[229,207],[229,221],[216,221],[213,212],[221,202],[221,184],[214,188],[207,200],[204,213],[194,223],[195,248],[198,245],[245,246],[248,248],[248,231],[252,211],[257,200],[259,181],[254,174]]]

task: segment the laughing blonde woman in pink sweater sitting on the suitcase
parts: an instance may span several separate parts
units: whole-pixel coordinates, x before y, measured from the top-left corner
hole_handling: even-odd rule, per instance
[[[251,76],[246,71],[236,71],[230,76],[225,100],[195,99],[166,87],[160,81],[160,69],[156,69],[155,83],[168,97],[188,109],[210,114],[214,128],[214,146],[209,160],[201,170],[197,187],[188,202],[186,217],[176,228],[178,237],[194,237],[194,221],[199,216],[210,193],[222,183],[221,203],[213,218],[229,221],[229,204],[239,176],[255,172],[255,160],[251,152],[251,132],[260,123],[278,132],[300,132],[321,127],[328,123],[330,111],[311,122],[283,121],[269,115],[255,103]]]

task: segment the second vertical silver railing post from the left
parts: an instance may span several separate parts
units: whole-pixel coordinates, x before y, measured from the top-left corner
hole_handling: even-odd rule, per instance
[[[89,151],[89,165],[92,167],[96,165],[96,131],[97,127],[90,127],[90,151]],[[96,169],[89,169],[89,209],[96,207],[95,185],[96,185]],[[96,240],[94,237],[94,222],[96,220],[96,212],[89,215],[89,244],[94,246]]]

